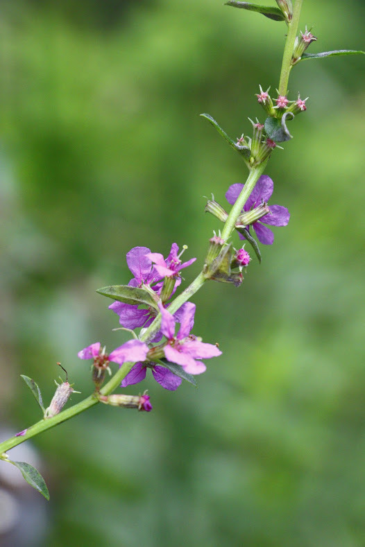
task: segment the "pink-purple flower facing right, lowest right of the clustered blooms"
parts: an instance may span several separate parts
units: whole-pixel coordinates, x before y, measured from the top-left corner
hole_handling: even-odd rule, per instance
[[[221,355],[217,346],[205,344],[196,336],[190,335],[194,325],[195,304],[187,302],[180,318],[180,330],[175,336],[176,319],[160,305],[162,314],[161,331],[167,338],[164,346],[164,355],[167,361],[181,365],[189,374],[201,374],[205,372],[204,363],[196,359],[210,358]]]

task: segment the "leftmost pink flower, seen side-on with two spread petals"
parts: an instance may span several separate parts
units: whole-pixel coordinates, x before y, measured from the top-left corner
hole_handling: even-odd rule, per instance
[[[117,347],[111,354],[105,354],[101,349],[100,342],[81,349],[78,352],[80,359],[94,359],[94,363],[98,366],[107,366],[110,361],[123,365],[128,361],[135,363],[136,361],[144,361],[148,352],[148,346],[140,340],[128,340],[125,344]]]

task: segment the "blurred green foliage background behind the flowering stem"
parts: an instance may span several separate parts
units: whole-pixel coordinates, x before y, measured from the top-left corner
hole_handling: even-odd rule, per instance
[[[198,114],[232,137],[262,121],[254,94],[278,87],[286,27],[212,0],[0,10],[0,394],[13,434],[40,418],[19,374],[49,401],[60,361],[76,402],[92,390],[77,351],[128,339],[95,289],[128,282],[130,248],[187,244],[186,281],[198,273],[219,228],[203,196],[225,206],[246,177]],[[364,49],[364,15],[363,0],[306,0],[300,28],[314,25],[312,52]],[[289,88],[308,110],[266,173],[290,223],[241,288],[212,282],[193,299],[194,332],[223,356],[198,390],[151,376],[126,390],[148,388],[150,414],[92,408],[28,443],[51,501],[29,498],[42,519],[12,545],[365,545],[364,58],[303,62]]]

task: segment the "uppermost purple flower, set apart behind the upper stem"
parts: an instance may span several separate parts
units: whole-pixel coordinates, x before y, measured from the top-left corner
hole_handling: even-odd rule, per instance
[[[244,184],[232,184],[226,193],[226,199],[230,205],[233,205],[239,194],[241,193]],[[262,202],[267,202],[271,198],[273,193],[273,181],[267,175],[262,175],[257,180],[256,186],[250,194],[250,197],[244,205],[243,211],[251,211],[255,207],[262,205]],[[286,207],[281,205],[270,205],[270,213],[262,216],[260,220],[253,223],[253,229],[257,234],[257,238],[264,245],[271,245],[274,240],[273,232],[271,229],[264,226],[269,224],[271,226],[286,226],[289,223],[290,214]],[[246,226],[249,229],[249,226]],[[244,239],[244,236],[239,234],[239,238]]]

